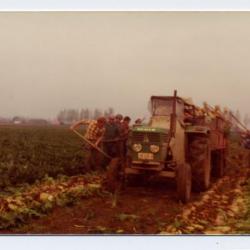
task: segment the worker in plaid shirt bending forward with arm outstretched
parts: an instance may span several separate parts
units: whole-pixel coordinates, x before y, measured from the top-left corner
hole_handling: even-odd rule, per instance
[[[106,119],[104,117],[99,117],[97,120],[81,120],[73,124],[70,129],[74,130],[80,125],[88,125],[84,137],[93,143],[96,147],[100,144],[103,139],[105,132]],[[87,170],[96,170],[97,167],[101,166],[101,155],[94,149],[91,145],[85,143],[85,161],[84,165]]]

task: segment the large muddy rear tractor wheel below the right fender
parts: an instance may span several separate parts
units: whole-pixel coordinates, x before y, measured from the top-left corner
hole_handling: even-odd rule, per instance
[[[211,151],[208,138],[196,137],[189,146],[189,162],[195,191],[205,191],[210,186]]]

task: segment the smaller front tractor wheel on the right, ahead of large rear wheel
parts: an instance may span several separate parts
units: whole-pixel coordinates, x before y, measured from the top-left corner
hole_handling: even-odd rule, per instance
[[[189,164],[180,164],[177,168],[177,194],[179,200],[187,203],[191,197],[192,174]]]

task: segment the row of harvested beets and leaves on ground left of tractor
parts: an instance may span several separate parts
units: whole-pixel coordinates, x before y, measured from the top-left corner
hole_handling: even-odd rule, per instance
[[[17,226],[40,217],[55,206],[73,204],[83,197],[100,193],[98,175],[46,177],[33,185],[6,188],[0,195],[0,228]]]

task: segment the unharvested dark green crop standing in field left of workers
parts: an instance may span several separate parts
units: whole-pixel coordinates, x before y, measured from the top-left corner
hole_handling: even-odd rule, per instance
[[[0,126],[0,187],[84,173],[83,142],[64,126]]]

